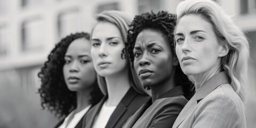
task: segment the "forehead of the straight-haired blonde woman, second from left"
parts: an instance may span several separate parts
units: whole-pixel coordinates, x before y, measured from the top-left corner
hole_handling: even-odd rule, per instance
[[[99,22],[92,31],[92,39],[113,36],[121,37],[121,33],[119,29],[110,22]]]

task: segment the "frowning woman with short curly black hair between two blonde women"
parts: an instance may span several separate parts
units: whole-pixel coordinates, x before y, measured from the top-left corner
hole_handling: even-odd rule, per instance
[[[151,99],[124,127],[172,127],[188,100],[189,87],[173,46],[177,17],[166,11],[136,15],[131,23],[126,53],[143,87],[151,89]]]

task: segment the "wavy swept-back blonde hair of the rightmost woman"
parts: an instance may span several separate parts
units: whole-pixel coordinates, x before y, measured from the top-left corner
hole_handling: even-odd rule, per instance
[[[241,100],[245,102],[247,99],[246,84],[250,51],[249,42],[243,31],[234,24],[231,17],[218,3],[211,0],[183,1],[177,6],[176,12],[177,25],[184,15],[200,14],[207,22],[212,24],[219,41],[222,39],[227,42],[229,52],[221,59],[221,70],[226,71],[231,86]]]

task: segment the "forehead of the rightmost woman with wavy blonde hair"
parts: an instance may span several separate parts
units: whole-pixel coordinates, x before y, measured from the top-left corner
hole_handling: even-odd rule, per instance
[[[179,20],[175,33],[193,30],[213,31],[213,26],[201,14],[188,14]]]

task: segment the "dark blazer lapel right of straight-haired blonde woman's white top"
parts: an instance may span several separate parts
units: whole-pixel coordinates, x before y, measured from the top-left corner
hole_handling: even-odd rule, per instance
[[[118,120],[122,117],[122,115],[127,110],[129,103],[136,97],[137,92],[131,87],[129,91],[124,95],[123,99],[118,103],[116,109],[113,114],[110,116],[106,128],[114,127]]]

